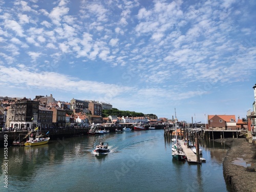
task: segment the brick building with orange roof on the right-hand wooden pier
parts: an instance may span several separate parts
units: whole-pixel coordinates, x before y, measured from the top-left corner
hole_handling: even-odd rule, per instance
[[[235,115],[208,115],[210,130],[237,130]]]

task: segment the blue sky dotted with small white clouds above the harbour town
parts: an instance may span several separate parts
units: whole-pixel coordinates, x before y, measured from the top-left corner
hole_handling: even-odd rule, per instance
[[[252,110],[256,1],[0,0],[0,96],[207,122]]]

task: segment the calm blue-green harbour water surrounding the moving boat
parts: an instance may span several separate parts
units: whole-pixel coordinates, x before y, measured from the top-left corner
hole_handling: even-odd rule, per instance
[[[111,153],[95,156],[99,136],[86,135],[33,147],[8,147],[8,190],[0,191],[229,191],[220,143],[201,145],[206,163],[173,160],[163,130],[101,135]],[[1,181],[4,180],[4,152]]]

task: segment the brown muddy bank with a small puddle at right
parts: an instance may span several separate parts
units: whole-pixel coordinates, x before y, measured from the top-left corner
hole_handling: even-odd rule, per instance
[[[245,138],[220,139],[230,144],[223,161],[223,175],[233,191],[256,191],[256,147]]]

